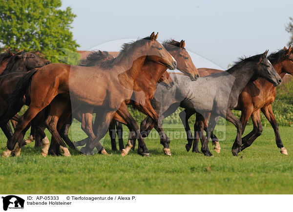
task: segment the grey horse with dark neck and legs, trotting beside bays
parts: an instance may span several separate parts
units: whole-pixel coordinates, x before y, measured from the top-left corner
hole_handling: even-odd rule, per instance
[[[240,59],[227,71],[201,77],[196,82],[188,82],[185,76],[174,74],[176,89],[167,91],[159,85],[152,106],[160,114],[161,119],[173,113],[179,106],[199,113],[210,112],[207,136],[201,148],[206,156],[212,156],[208,148],[210,132],[213,131],[219,116],[222,116],[237,128],[237,137],[232,147],[232,154],[237,156],[242,144],[242,124],[231,110],[237,106],[242,89],[256,77],[263,77],[274,86],[282,82],[267,59],[267,53],[268,51]],[[142,133],[153,126],[152,120],[147,117],[141,123]]]

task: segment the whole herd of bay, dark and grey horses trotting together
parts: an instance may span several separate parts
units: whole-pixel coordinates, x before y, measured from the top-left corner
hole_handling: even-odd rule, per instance
[[[284,148],[278,125],[272,112],[276,86],[285,74],[293,74],[292,47],[270,54],[240,59],[226,71],[196,68],[185,49],[185,41],[157,41],[158,33],[131,43],[124,43],[114,58],[106,51],[92,52],[80,65],[51,64],[48,60],[28,53],[11,51],[0,55],[0,127],[7,137],[7,149],[2,157],[20,155],[21,147],[35,140],[42,146],[42,155],[70,156],[67,148],[84,146],[80,151],[92,154],[94,148],[107,154],[100,140],[106,132],[129,128],[126,146],[119,137],[119,148],[125,156],[134,150],[138,140],[138,153],[149,156],[144,138],[154,127],[160,135],[163,151],[171,155],[170,140],[162,127],[164,118],[180,106],[180,118],[187,132],[188,144],[193,152],[212,156],[208,148],[212,140],[220,153],[218,138],[213,130],[219,117],[224,117],[237,128],[232,154],[249,147],[260,136],[260,111],[271,123],[276,145]],[[181,74],[168,73],[178,69]],[[20,117],[22,106],[28,109]],[[140,127],[127,109],[132,105],[147,115]],[[231,110],[241,110],[240,120]],[[93,114],[95,115],[94,123]],[[194,134],[188,124],[196,113]],[[251,117],[253,130],[242,138]],[[82,123],[87,138],[72,142],[68,129],[72,120]],[[12,131],[11,125],[14,127]],[[31,135],[23,140],[31,127]],[[52,134],[51,143],[44,130]],[[206,131],[206,135],[203,133]],[[110,133],[111,146],[117,150],[115,133]],[[66,145],[67,144],[67,145]]]

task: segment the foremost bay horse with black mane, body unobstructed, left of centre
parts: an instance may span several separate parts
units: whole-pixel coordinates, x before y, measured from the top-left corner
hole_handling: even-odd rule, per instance
[[[48,64],[35,71],[29,79],[30,86],[28,86],[29,81],[22,82],[22,88],[30,87],[31,103],[21,117],[4,155],[9,156],[17,142],[21,147],[25,127],[49,104],[51,109],[46,124],[52,136],[55,137],[67,155],[70,153],[58,130],[70,117],[71,106],[74,104],[82,105],[83,107],[78,109],[82,109],[83,113],[87,113],[89,108],[100,106],[101,113],[96,116],[99,117],[100,122],[97,137],[89,144],[89,148],[99,146],[98,151],[103,150],[104,148],[99,141],[104,137],[112,115],[116,111],[129,125],[132,124],[132,117],[126,108],[125,101],[131,98],[134,82],[140,74],[146,56],[149,56],[153,62],[166,65],[169,69],[176,68],[176,61],[156,41],[157,36],[158,34],[152,33],[145,39],[125,45],[117,58],[106,61],[99,66]],[[16,89],[11,95],[9,106],[15,107],[23,93],[23,89]],[[140,132],[136,133],[137,137],[140,137]],[[142,149],[141,154],[147,154],[148,149],[144,141],[140,139],[139,143]]]

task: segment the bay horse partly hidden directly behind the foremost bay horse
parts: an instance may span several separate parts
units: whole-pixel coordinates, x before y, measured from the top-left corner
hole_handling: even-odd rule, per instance
[[[169,40],[166,42],[163,42],[163,46],[168,50],[168,52],[176,59],[176,61],[180,61],[180,65],[178,65],[177,62],[177,69],[184,71],[184,73],[189,73],[189,77],[192,80],[197,80],[199,77],[198,74],[195,74],[194,72],[197,72],[196,67],[192,63],[190,56],[188,55],[188,52],[185,50],[185,41],[177,42],[174,40]],[[145,113],[146,115],[150,116],[154,121],[158,120],[158,115],[153,110],[149,100],[153,98],[153,95],[156,90],[156,84],[160,79],[162,78],[162,74],[167,73],[167,67],[161,64],[156,64],[153,62],[146,61],[143,65],[142,72],[140,77],[138,77],[135,81],[134,88],[133,88],[133,94],[131,96],[131,99],[129,102],[126,102],[127,105],[132,105],[139,109],[141,112]],[[192,75],[190,74],[192,73]],[[194,76],[194,77],[193,77]],[[119,122],[122,122],[123,124],[126,124],[126,122],[123,121],[123,119],[119,116],[118,113],[115,113],[113,116],[113,119]],[[89,119],[91,120],[91,118]],[[91,123],[91,122],[90,122]],[[112,123],[112,127],[115,123]],[[116,124],[117,125],[117,124]],[[160,124],[158,124],[158,131],[160,135],[162,135],[161,143],[163,144],[164,148],[163,151],[170,155],[170,149],[168,148],[168,143],[165,138],[167,138],[167,135],[163,131],[163,127],[161,127]],[[131,126],[127,126],[128,128]],[[131,133],[129,134],[129,141],[127,148],[122,149],[122,155],[125,156],[129,149],[134,146],[135,141],[135,130],[138,130],[138,125],[135,125],[135,129],[129,128]],[[110,129],[111,131],[114,131],[115,129]],[[84,139],[81,142],[76,142],[76,146],[83,146],[87,140]],[[120,140],[121,142],[122,140]],[[112,139],[113,142],[113,139]],[[133,144],[132,144],[133,143]],[[120,148],[122,148],[124,145],[122,143],[119,144]],[[114,146],[114,144],[112,144]],[[131,146],[131,147],[130,147]],[[138,149],[140,152],[140,149]]]

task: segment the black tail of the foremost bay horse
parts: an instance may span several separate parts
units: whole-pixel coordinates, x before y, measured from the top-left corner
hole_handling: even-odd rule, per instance
[[[31,79],[38,69],[27,72],[16,84],[16,88],[8,98],[8,108],[16,108],[29,88]]]

